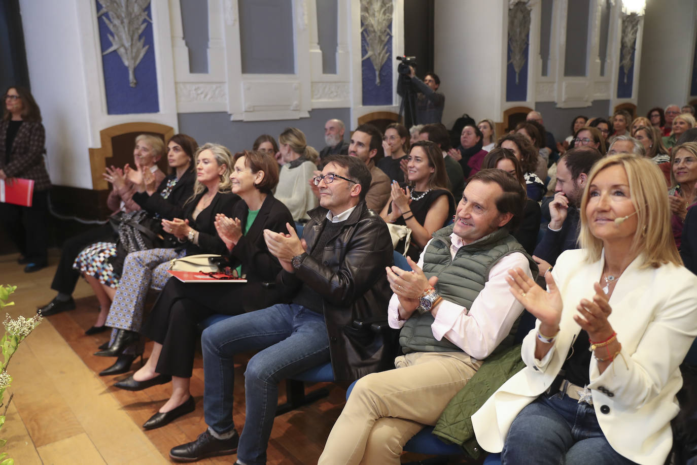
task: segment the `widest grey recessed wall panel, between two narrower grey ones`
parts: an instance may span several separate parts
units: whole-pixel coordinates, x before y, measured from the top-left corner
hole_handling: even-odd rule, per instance
[[[292,3],[239,1],[243,73],[295,73]]]

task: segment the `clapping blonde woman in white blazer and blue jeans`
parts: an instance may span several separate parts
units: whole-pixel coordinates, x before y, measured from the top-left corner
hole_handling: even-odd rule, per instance
[[[511,291],[537,317],[526,367],[472,416],[503,464],[663,464],[697,335],[697,277],[673,242],[652,162],[597,162],[581,201],[581,250],[560,255],[545,292],[519,270]]]

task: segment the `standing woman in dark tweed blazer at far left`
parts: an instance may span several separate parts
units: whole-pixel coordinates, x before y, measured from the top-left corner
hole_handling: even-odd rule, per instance
[[[3,94],[5,111],[0,121],[0,179],[32,179],[31,206],[0,203],[0,218],[8,236],[20,250],[20,264],[25,273],[40,270],[47,264],[48,192],[51,188],[44,164],[46,134],[41,112],[24,87],[13,86]]]

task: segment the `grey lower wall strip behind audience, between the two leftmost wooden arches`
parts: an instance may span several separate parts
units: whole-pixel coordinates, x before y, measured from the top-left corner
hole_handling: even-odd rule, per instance
[[[323,108],[314,109],[309,118],[282,121],[230,121],[227,112],[215,113],[180,113],[178,114],[179,131],[190,135],[199,145],[205,142],[217,142],[229,148],[232,153],[251,149],[254,139],[262,134],[275,138],[285,128],[298,128],[305,132],[307,143],[319,152],[324,144],[324,123],[337,118],[348,125],[351,121],[351,109]],[[344,139],[348,140],[349,129],[346,128]]]

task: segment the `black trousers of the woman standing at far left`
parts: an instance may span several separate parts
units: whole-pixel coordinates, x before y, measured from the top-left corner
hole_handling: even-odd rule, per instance
[[[35,190],[31,206],[0,204],[10,239],[30,263],[45,264],[48,248],[48,190]]]

